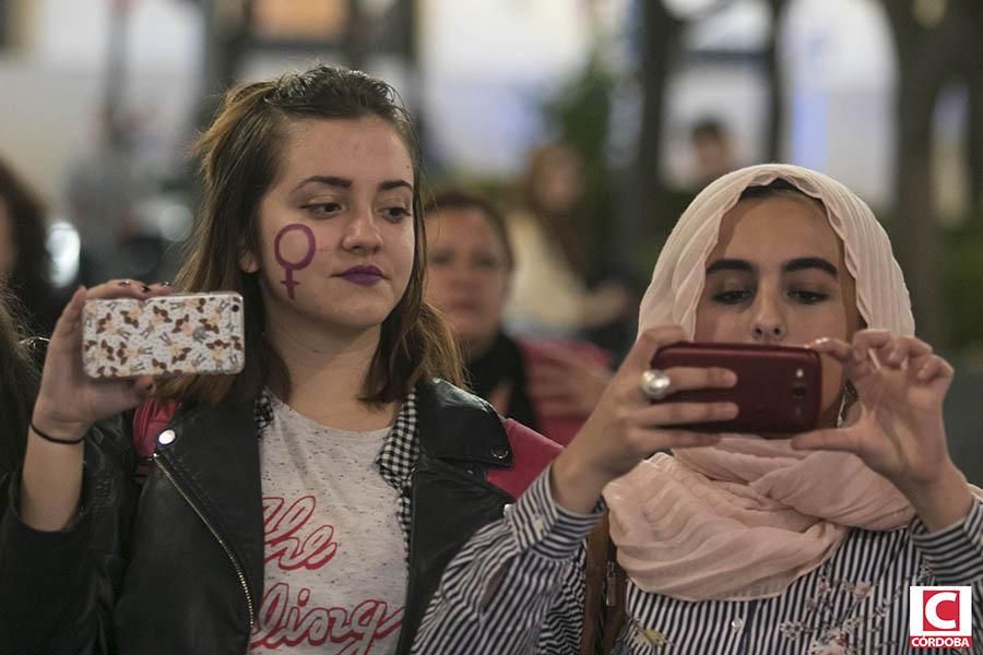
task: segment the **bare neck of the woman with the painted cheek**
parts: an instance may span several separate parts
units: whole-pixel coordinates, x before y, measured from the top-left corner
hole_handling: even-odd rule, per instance
[[[332,333],[296,325],[268,325],[267,342],[283,359],[289,392],[272,389],[283,402],[321,425],[341,430],[384,428],[395,418],[395,403],[363,401],[366,374],[379,344],[380,327]]]

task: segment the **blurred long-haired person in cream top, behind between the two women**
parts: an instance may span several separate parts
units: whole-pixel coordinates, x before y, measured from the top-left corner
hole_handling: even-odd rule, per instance
[[[516,270],[506,324],[519,335],[571,337],[630,320],[626,285],[602,279],[594,267],[584,215],[580,155],[564,144],[535,150],[522,180],[522,206],[508,217]]]

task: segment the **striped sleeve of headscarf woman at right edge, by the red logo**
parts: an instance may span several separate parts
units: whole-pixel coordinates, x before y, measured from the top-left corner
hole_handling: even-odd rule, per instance
[[[938,584],[973,587],[973,642],[983,644],[983,502],[976,500],[962,522],[934,533],[915,519],[911,540]]]

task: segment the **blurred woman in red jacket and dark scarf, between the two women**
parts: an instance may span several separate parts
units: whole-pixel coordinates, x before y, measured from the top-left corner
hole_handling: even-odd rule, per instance
[[[609,355],[585,342],[506,333],[516,261],[505,218],[489,200],[448,189],[425,217],[426,298],[450,321],[471,389],[502,416],[568,443],[611,379]]]

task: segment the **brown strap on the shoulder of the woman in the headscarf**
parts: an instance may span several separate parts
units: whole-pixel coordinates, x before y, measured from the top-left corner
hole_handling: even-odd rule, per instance
[[[581,655],[611,653],[625,624],[627,576],[618,565],[617,549],[611,540],[608,528],[608,514],[605,512],[588,536]]]

